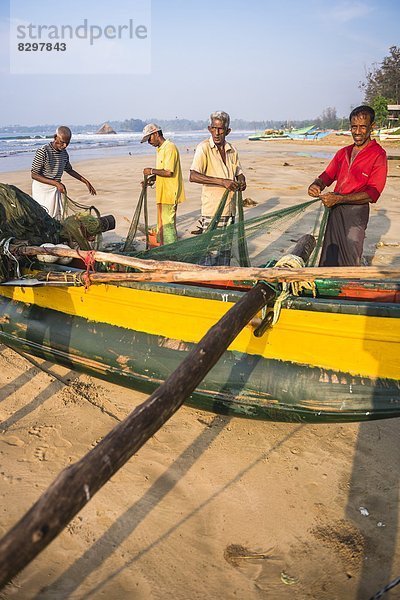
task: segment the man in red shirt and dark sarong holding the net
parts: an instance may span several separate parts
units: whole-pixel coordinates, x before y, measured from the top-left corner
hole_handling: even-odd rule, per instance
[[[308,188],[329,208],[320,267],[358,266],[369,219],[369,203],[376,202],[386,183],[386,152],[371,132],[375,112],[358,106],[350,113],[354,144],[341,148]],[[333,192],[321,192],[336,181]]]

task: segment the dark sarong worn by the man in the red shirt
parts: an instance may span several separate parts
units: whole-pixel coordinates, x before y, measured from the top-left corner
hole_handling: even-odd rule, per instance
[[[329,209],[320,267],[353,267],[361,264],[368,204],[337,204]]]

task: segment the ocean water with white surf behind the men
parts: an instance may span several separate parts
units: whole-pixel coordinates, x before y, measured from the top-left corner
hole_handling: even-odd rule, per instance
[[[38,130],[29,135],[0,133],[0,173],[30,169],[35,151],[53,139],[53,131]],[[248,131],[231,133],[230,140],[247,138]],[[189,152],[209,135],[208,131],[166,131],[164,136],[175,142],[181,152]],[[107,156],[152,154],[149,144],[141,144],[141,133],[117,133],[98,135],[77,133],[72,135],[68,154],[72,166],[81,160],[104,158]]]

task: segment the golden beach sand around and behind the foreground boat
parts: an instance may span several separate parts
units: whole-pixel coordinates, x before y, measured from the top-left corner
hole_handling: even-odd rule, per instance
[[[306,200],[327,163],[309,154],[339,143],[238,142],[245,195],[258,202],[247,214]],[[192,150],[182,151],[185,172]],[[152,154],[75,161],[101,212],[117,218],[109,241],[126,235],[152,165]],[[400,264],[399,165],[389,162],[372,206],[367,263]],[[29,173],[1,179],[29,192]],[[82,184],[65,180],[72,198],[88,201]],[[186,191],[181,235],[199,216],[200,187]],[[0,395],[0,534],[146,397],[4,346]],[[301,425],[183,407],[0,598],[369,598],[400,575],[399,433],[398,420]]]

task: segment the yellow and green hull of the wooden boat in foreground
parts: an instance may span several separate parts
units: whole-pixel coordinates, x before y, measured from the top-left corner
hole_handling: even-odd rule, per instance
[[[400,282],[317,282],[277,324],[250,323],[188,403],[285,421],[400,416]],[[0,286],[0,341],[150,391],[243,289],[155,283]]]

